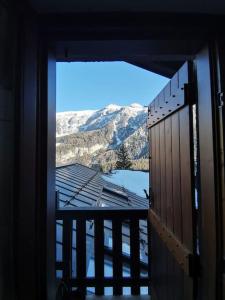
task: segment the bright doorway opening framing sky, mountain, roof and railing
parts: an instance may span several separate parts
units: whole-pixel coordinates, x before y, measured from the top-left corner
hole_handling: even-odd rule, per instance
[[[71,292],[81,292],[81,276],[81,293],[149,294],[147,115],[168,79],[121,61],[57,63],[56,70],[56,277],[68,276]],[[67,225],[64,209],[75,211]]]

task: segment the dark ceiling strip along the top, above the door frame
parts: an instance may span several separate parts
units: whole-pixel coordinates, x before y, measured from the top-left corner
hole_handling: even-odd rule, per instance
[[[28,0],[41,13],[150,11],[224,14],[224,0]],[[191,20],[190,20],[191,21]]]

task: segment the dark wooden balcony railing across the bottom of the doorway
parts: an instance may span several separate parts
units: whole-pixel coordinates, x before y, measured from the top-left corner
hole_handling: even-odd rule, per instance
[[[77,289],[85,295],[91,290],[104,295],[105,288],[110,287],[114,295],[123,295],[123,289],[130,288],[131,294],[138,295],[141,287],[149,287],[147,214],[147,209],[136,208],[58,209],[56,270],[67,291]],[[88,238],[93,245],[87,243]],[[128,251],[124,251],[124,246]],[[91,276],[87,266],[89,248],[94,253]],[[111,258],[112,264],[109,276],[105,272],[106,257]],[[129,266],[128,274],[124,274],[124,265]]]

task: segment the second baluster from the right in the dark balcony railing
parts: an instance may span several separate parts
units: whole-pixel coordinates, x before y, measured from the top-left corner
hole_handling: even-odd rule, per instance
[[[122,295],[122,222],[114,219],[112,221],[112,238],[113,238],[113,294]]]

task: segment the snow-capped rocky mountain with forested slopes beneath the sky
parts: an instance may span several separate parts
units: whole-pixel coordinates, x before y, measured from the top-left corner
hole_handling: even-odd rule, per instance
[[[147,157],[147,108],[108,105],[100,110],[57,113],[56,163],[114,163],[122,143],[131,159]]]

